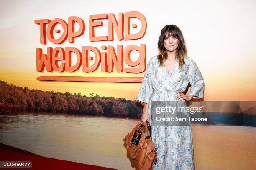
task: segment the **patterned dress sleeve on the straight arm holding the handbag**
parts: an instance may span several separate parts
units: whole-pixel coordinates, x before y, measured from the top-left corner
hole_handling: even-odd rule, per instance
[[[146,71],[145,71],[143,80],[141,82],[141,87],[136,97],[136,100],[149,104],[151,95],[153,93],[152,76],[153,76],[153,68],[150,60],[146,66]]]

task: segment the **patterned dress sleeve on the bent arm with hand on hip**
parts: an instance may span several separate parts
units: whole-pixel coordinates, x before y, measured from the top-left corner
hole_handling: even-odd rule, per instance
[[[204,79],[199,68],[197,67],[197,64],[193,60],[189,64],[188,79],[191,85],[188,94],[194,95],[195,97],[193,98],[204,97]]]

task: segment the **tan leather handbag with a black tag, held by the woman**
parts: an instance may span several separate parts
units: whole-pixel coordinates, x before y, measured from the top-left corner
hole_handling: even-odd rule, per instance
[[[153,162],[156,164],[157,152],[152,143],[150,131],[151,126],[148,122],[146,122],[146,126],[138,122],[131,132],[123,138],[126,150],[139,170],[151,170]]]

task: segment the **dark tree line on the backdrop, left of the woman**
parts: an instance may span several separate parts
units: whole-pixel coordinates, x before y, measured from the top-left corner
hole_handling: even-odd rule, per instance
[[[138,107],[140,106],[140,107]],[[140,118],[142,107],[125,98],[100,97],[90,93],[61,93],[30,90],[0,80],[0,112],[35,111],[59,112],[104,117]]]

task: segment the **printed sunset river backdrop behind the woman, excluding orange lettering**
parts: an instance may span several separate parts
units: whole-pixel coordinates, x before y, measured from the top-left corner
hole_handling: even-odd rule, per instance
[[[93,46],[102,52],[102,45],[111,45],[117,50],[117,45],[123,45],[125,48],[128,45],[145,44],[147,63],[151,57],[158,54],[158,37],[161,28],[166,24],[177,25],[182,30],[188,56],[197,63],[205,80],[205,101],[256,101],[256,70],[254,68],[256,64],[254,49],[256,1],[254,0],[243,2],[238,0],[184,0],[182,2],[173,0],[125,2],[118,0],[25,0],[20,2],[8,0],[2,2],[0,8],[0,80],[22,88],[28,87],[22,90],[24,94],[26,90],[33,89],[51,92],[48,95],[52,102],[56,99],[53,96],[59,95],[60,99],[55,102],[59,103],[61,108],[66,107],[64,105],[67,104],[68,108],[62,111],[60,108],[55,108],[53,109],[55,113],[50,114],[48,111],[52,111],[51,108],[38,107],[36,97],[30,100],[31,104],[28,104],[29,100],[25,100],[24,105],[27,108],[33,108],[30,110],[36,110],[37,113],[32,114],[32,111],[29,111],[31,114],[19,113],[23,117],[16,115],[16,111],[12,111],[14,117],[10,113],[1,113],[3,120],[12,120],[10,124],[7,122],[2,124],[5,130],[0,135],[1,143],[49,158],[123,170],[135,169],[126,154],[123,137],[136,125],[142,112],[141,107],[134,102],[130,106],[122,105],[128,112],[123,114],[128,116],[115,117],[114,114],[109,116],[108,112],[115,112],[115,110],[107,109],[108,102],[105,102],[105,106],[98,106],[100,100],[109,100],[106,97],[122,99],[113,104],[110,107],[112,109],[115,105],[123,104],[123,100],[133,101],[141,83],[40,81],[36,80],[36,77],[49,75],[143,77],[144,72],[137,74],[117,72],[115,68],[113,72],[102,72],[100,67],[89,73],[83,72],[82,67],[75,72],[47,72],[45,69],[38,72],[36,48],[41,48],[44,54],[47,53],[47,47],[75,47],[82,50],[82,46]],[[118,40],[114,30],[113,41],[90,41],[90,15],[113,13],[118,20],[118,13],[129,11],[138,11],[146,19],[146,33],[142,38]],[[74,43],[66,40],[61,44],[54,44],[48,39],[45,45],[40,43],[40,28],[35,24],[35,20],[61,18],[68,22],[70,16],[77,16],[84,20],[83,35],[75,38]],[[103,26],[95,28],[95,36],[108,35],[108,20],[99,21],[102,21]],[[130,23],[137,25],[137,28],[130,28],[130,34],[141,29],[141,22],[137,18],[131,18]],[[76,23],[75,30],[78,28]],[[63,31],[59,24],[55,29]],[[54,36],[60,37],[57,32],[54,32]],[[139,53],[136,51],[130,54],[132,61],[136,61],[138,56]],[[77,62],[74,54],[71,62]],[[123,67],[130,68],[125,63]],[[14,88],[6,84],[3,86],[10,91]],[[35,93],[35,91],[29,92],[29,94]],[[62,100],[63,94],[66,95]],[[46,95],[36,96],[44,98]],[[80,97],[79,101],[81,99],[82,102],[85,101],[82,97],[91,97],[90,99],[94,102],[89,102],[88,99],[84,105],[90,105],[90,109],[97,110],[94,113],[90,112],[90,115],[98,116],[85,116],[86,110],[81,111],[81,107],[76,108],[78,98],[74,99],[71,96]],[[71,106],[70,101],[73,99],[75,102],[72,102]],[[11,108],[15,108],[15,104]],[[26,110],[24,108],[20,107],[18,110],[24,111]],[[244,108],[246,109],[248,107]],[[68,110],[72,114],[66,114]],[[119,107],[119,110],[123,109]],[[79,114],[76,114],[78,112]],[[116,112],[119,112],[118,109]],[[17,128],[8,130],[8,127],[15,127],[15,124]],[[255,127],[193,125],[192,130],[196,170],[256,168]],[[26,135],[22,135],[25,132]]]

